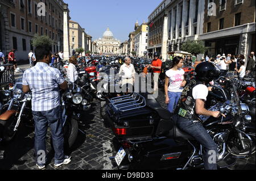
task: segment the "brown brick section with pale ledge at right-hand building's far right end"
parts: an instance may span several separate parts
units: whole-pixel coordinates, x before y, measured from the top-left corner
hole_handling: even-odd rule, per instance
[[[203,35],[209,56],[255,52],[255,1],[205,1]]]

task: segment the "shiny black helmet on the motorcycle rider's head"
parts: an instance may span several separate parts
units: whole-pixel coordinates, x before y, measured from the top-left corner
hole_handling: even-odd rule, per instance
[[[196,66],[196,79],[204,82],[211,82],[220,75],[220,69],[210,62],[202,62]]]

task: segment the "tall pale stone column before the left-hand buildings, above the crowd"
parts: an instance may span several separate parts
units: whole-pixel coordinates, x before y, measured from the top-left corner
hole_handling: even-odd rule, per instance
[[[63,53],[64,53],[64,60],[69,59],[69,9],[68,4],[64,4],[64,6],[67,5],[67,8],[64,9],[64,22],[63,22]]]

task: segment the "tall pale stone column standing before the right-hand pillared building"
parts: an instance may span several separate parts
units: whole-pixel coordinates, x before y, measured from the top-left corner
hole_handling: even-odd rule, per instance
[[[164,61],[167,60],[167,41],[168,41],[168,10],[165,11],[163,21],[163,40],[162,40],[162,57]]]

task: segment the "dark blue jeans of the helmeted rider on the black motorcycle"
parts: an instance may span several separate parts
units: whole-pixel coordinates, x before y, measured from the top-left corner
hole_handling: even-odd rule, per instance
[[[207,133],[206,129],[200,122],[193,123],[193,120],[188,120],[183,117],[177,116],[177,126],[193,136],[203,146],[203,159],[205,170],[217,170],[217,163],[209,163],[209,158],[212,158],[212,151],[216,151],[217,161],[217,145],[212,137]]]

